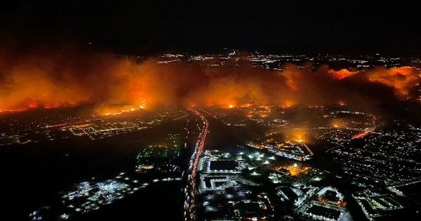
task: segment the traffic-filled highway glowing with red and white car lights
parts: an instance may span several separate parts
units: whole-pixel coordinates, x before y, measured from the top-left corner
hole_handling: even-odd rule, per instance
[[[196,220],[196,206],[194,204],[196,196],[196,175],[199,161],[201,159],[201,155],[203,154],[203,148],[205,147],[206,135],[209,132],[209,122],[203,114],[195,109],[189,109],[189,111],[196,116],[199,116],[199,118],[203,121],[203,127],[201,128],[199,137],[197,138],[192,158],[190,158],[189,168],[186,171],[188,183],[185,187],[184,216],[185,220]]]

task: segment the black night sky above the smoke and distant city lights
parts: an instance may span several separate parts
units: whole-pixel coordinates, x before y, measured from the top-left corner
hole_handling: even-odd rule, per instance
[[[128,53],[246,51],[420,55],[410,1],[13,1],[0,33],[26,46],[86,43]]]

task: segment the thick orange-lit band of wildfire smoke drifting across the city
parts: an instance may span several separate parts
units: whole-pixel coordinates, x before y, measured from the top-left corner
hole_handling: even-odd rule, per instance
[[[9,50],[8,50],[9,49]],[[240,61],[239,61],[240,60]],[[240,64],[238,64],[240,62]],[[225,65],[161,64],[112,53],[0,51],[0,110],[95,104],[99,114],[124,109],[248,104],[367,105],[419,98],[415,67],[367,69],[283,65],[255,67],[241,56]]]

